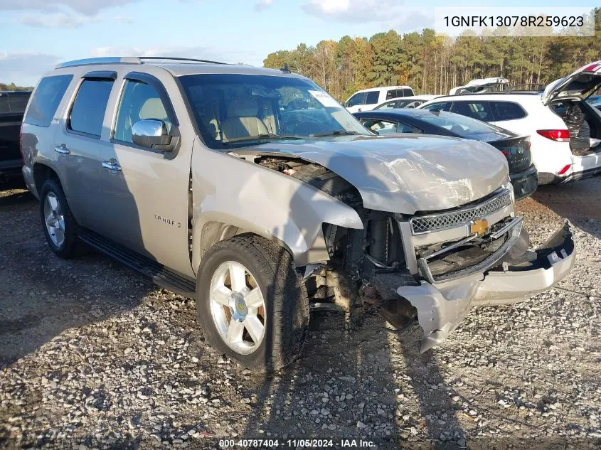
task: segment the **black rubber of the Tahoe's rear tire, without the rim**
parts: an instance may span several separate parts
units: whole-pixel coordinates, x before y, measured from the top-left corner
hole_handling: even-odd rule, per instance
[[[50,237],[50,233],[48,232],[48,227],[46,226],[44,204],[46,203],[46,198],[50,193],[55,195],[63,212],[65,237],[61,245],[56,245],[55,242],[53,242],[52,237]],[[75,219],[71,214],[71,210],[69,209],[63,188],[61,188],[60,183],[53,178],[48,178],[48,180],[43,183],[40,190],[40,218],[42,221],[42,229],[44,230],[44,235],[46,236],[46,241],[50,246],[50,250],[52,250],[55,255],[64,259],[73,258],[79,255],[77,223],[75,223]]]

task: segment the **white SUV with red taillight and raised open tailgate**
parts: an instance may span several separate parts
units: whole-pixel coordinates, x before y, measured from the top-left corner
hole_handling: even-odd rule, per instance
[[[601,173],[601,114],[583,101],[600,86],[597,61],[552,82],[542,93],[448,95],[419,108],[455,112],[531,136],[538,183],[563,183]]]

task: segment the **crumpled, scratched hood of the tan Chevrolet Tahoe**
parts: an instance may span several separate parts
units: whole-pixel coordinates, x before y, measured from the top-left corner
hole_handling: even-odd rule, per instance
[[[509,179],[499,150],[446,136],[272,141],[233,153],[290,155],[321,164],[355,186],[366,208],[403,214],[455,208]]]

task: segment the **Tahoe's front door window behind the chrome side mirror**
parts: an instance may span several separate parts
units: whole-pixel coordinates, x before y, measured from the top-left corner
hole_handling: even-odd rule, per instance
[[[160,119],[166,123],[167,130],[171,130],[171,122],[159,92],[144,82],[126,80],[119,101],[113,139],[131,143],[132,126],[143,119]]]

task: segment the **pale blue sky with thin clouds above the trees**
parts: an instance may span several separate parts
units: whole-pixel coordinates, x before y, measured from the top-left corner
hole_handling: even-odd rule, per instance
[[[594,2],[593,2],[594,3]],[[461,1],[462,6],[523,1]],[[567,6],[536,0],[529,6]],[[587,6],[573,0],[569,6]],[[433,25],[448,1],[0,0],[0,82],[35,85],[63,60],[169,55],[262,65],[268,53],[344,35]]]

